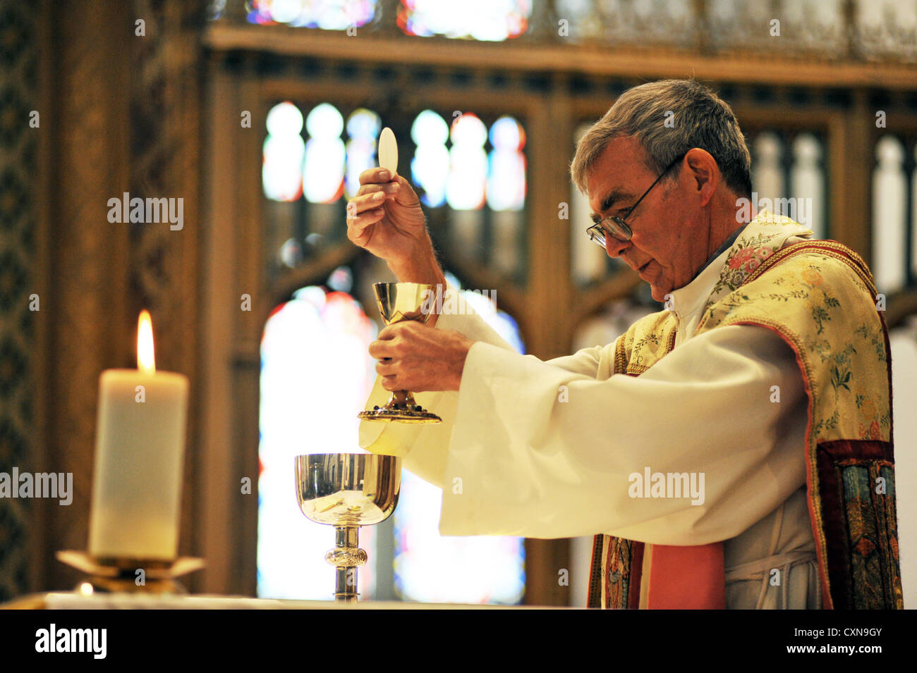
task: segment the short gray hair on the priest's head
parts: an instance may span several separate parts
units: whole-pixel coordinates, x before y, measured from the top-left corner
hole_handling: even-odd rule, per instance
[[[751,197],[751,155],[735,113],[697,81],[651,81],[622,93],[577,143],[570,175],[580,192],[587,192],[586,178],[602,150],[622,136],[640,143],[647,168],[657,173],[692,147],[705,149],[716,160],[726,186]]]

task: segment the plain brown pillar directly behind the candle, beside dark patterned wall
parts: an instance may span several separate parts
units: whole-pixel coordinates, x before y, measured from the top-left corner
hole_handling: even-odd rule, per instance
[[[47,199],[50,292],[42,302],[47,340],[48,469],[72,472],[72,505],[42,500],[43,589],[69,589],[79,574],[54,558],[85,549],[92,495],[99,374],[131,364],[127,304],[128,226],[109,223],[107,201],[129,175],[128,5],[49,3],[50,135]]]

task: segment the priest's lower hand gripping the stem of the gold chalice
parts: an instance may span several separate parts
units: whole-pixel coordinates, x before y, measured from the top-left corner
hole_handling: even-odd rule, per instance
[[[370,355],[381,361],[376,373],[386,390],[458,390],[473,344],[458,331],[437,330],[409,320],[379,332],[379,340],[370,343]]]

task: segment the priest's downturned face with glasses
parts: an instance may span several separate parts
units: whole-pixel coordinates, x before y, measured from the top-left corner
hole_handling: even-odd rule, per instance
[[[653,184],[658,173],[646,168],[645,157],[631,137],[615,138],[602,150],[586,179],[593,218],[624,217]],[[626,217],[633,232],[629,241],[605,235],[608,255],[622,257],[637,271],[657,301],[691,282],[707,260],[709,222],[704,223],[702,204],[683,163],[672,167]]]

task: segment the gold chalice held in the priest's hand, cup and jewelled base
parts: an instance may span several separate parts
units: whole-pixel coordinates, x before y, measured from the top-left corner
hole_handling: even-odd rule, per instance
[[[379,313],[386,325],[405,320],[426,322],[433,311],[436,286],[424,283],[376,283],[372,286],[379,304]],[[414,400],[409,390],[392,391],[384,407],[372,407],[359,412],[364,420],[396,421],[399,423],[439,423],[442,418],[427,411]]]

